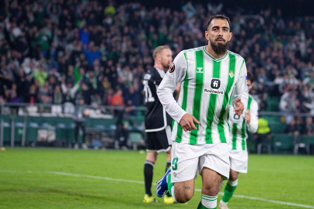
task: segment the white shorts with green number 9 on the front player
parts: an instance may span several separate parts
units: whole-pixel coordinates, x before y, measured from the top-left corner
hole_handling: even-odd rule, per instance
[[[198,172],[207,167],[229,179],[230,161],[229,145],[186,144],[172,142],[171,149],[171,182],[196,179]]]

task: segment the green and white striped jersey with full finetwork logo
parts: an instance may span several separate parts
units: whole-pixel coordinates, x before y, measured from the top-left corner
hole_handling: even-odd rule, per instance
[[[178,103],[172,96],[181,83]],[[181,51],[157,89],[165,110],[174,119],[171,140],[188,144],[229,142],[229,100],[241,98],[247,106],[247,81],[244,59],[227,51],[220,59],[208,54],[205,46]],[[193,115],[201,124],[184,131],[183,115]]]

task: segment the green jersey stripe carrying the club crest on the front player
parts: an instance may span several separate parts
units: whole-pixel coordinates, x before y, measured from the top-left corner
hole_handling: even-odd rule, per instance
[[[233,76],[231,78],[230,76],[230,71],[232,71],[231,73],[233,73]],[[227,81],[227,87],[226,87],[226,90],[225,90],[225,94],[224,94],[224,100],[223,100],[223,103],[222,103],[222,108],[221,108],[221,111],[220,111],[220,115],[219,115],[219,122],[218,122],[218,133],[219,133],[219,139],[220,139],[220,142],[227,142],[227,138],[226,138],[226,135],[225,135],[225,131],[224,131],[224,115],[226,113],[226,106],[229,102],[229,93],[231,91],[231,87],[233,85],[233,82],[235,80],[235,73],[236,73],[236,56],[235,55],[232,55],[229,53],[229,68],[228,68],[228,73],[227,73],[227,77],[228,77],[228,81]]]

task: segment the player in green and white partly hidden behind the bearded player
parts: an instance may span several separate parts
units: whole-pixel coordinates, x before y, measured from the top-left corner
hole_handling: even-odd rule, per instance
[[[253,82],[253,74],[247,72],[247,88],[249,91],[253,87]],[[258,127],[258,104],[257,101],[252,98],[252,95],[249,94],[248,96],[245,115],[236,115],[233,112],[233,107],[230,106],[229,124],[230,176],[228,183],[225,186],[224,196],[222,197],[222,200],[220,200],[219,209],[228,209],[227,203],[230,201],[238,185],[238,174],[247,173],[247,131],[256,133]]]

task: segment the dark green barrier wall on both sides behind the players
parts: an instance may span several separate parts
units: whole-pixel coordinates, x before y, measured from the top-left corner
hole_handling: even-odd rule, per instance
[[[5,103],[0,106],[0,147],[47,145],[49,142],[61,140],[63,143],[73,143],[75,136],[74,105],[63,104],[33,104]],[[107,134],[107,142],[112,142],[116,131],[116,117],[114,112],[123,110],[121,106],[86,106],[86,134],[94,137]],[[135,107],[137,115],[131,115],[136,124],[130,128],[131,141],[136,146],[137,138],[144,138],[145,107]],[[273,153],[311,153],[314,154],[314,138],[301,135],[296,145],[293,137],[285,134],[285,117],[293,115],[307,117],[308,114],[259,112],[268,120],[272,132],[271,147]],[[80,136],[81,137],[81,136]],[[111,139],[110,139],[111,138]],[[44,143],[46,142],[46,143]],[[253,136],[249,135],[247,147],[250,152],[256,152]]]

